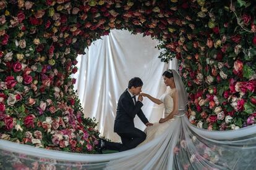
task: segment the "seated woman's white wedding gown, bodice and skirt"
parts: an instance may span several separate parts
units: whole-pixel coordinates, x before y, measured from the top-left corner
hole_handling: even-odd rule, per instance
[[[173,111],[173,94],[176,89],[171,89],[168,87],[166,92],[160,97],[160,100],[164,104],[164,118],[166,118],[171,111]],[[153,126],[148,126],[145,129],[145,133],[147,134],[147,138],[139,145],[144,145],[150,142],[151,140],[155,139],[156,137],[163,134],[168,127],[170,127],[170,123],[174,121],[175,118],[169,119],[164,123],[153,123]]]

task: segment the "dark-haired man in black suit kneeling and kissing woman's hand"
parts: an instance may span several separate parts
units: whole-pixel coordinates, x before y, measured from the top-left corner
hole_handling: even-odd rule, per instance
[[[140,120],[146,126],[152,126],[148,122],[143,111],[141,110],[143,103],[142,92],[143,82],[140,78],[132,78],[129,81],[128,89],[124,91],[117,103],[116,119],[114,121],[114,132],[116,132],[122,140],[122,144],[100,140],[100,149],[118,150],[119,152],[137,147],[143,140],[146,139],[146,134],[134,126],[135,115],[139,116]],[[138,101],[135,96],[139,95]],[[101,152],[101,150],[100,150]]]

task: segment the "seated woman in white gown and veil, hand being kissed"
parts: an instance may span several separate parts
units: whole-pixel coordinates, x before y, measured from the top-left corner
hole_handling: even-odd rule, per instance
[[[154,123],[153,126],[145,129],[147,138],[139,146],[146,144],[155,139],[157,136],[163,134],[163,132],[169,127],[169,124],[174,121],[176,116],[178,116],[178,112],[184,115],[187,104],[187,93],[181,77],[175,70],[166,70],[163,73],[163,79],[164,84],[168,86],[168,89],[163,95],[161,95],[160,99],[156,99],[146,93],[140,94],[143,97],[148,97],[148,99],[158,105],[163,103],[164,118],[161,118],[158,123]]]

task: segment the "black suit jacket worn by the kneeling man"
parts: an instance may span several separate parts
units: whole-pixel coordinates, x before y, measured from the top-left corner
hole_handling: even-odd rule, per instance
[[[148,119],[141,110],[142,106],[142,102],[136,102],[134,105],[134,101],[126,89],[117,103],[114,132],[129,132],[130,127],[134,127],[135,115],[138,115],[144,124],[148,123]]]

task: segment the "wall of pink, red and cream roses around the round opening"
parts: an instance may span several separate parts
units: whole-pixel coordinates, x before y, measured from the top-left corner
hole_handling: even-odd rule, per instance
[[[109,30],[160,40],[179,59],[192,124],[208,130],[255,123],[255,2],[0,1],[0,138],[94,153],[95,120],[73,89],[75,58]]]

